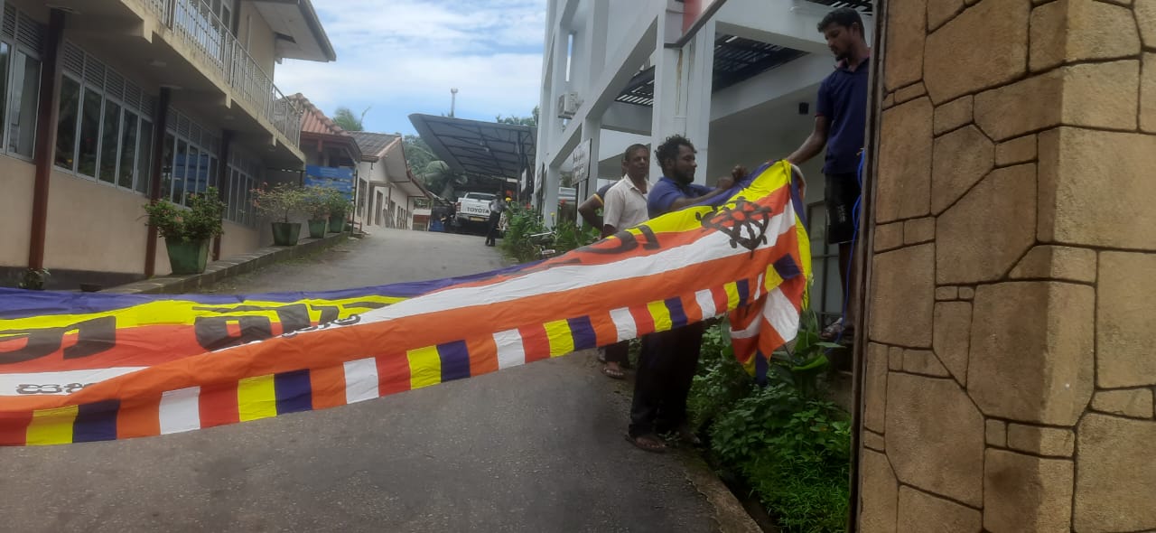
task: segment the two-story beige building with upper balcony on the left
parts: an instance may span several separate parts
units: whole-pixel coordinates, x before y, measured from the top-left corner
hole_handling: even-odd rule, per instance
[[[168,272],[150,199],[228,202],[214,256],[269,239],[251,191],[298,170],[286,58],[332,61],[310,0],[2,0],[0,272],[50,287]],[[264,231],[262,231],[264,229]]]

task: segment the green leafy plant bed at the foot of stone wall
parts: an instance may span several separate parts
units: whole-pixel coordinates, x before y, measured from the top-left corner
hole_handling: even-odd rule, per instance
[[[793,348],[772,357],[765,386],[734,358],[725,324],[703,338],[691,424],[706,443],[704,459],[766,531],[846,528],[850,415],[827,399],[825,351],[833,347],[818,342],[817,330],[805,316]]]

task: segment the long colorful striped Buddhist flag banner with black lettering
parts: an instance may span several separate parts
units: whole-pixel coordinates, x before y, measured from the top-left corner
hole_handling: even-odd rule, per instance
[[[786,163],[566,254],[328,293],[0,291],[0,444],[164,435],[321,409],[731,312],[756,372],[810,276]],[[762,363],[761,363],[762,362]]]

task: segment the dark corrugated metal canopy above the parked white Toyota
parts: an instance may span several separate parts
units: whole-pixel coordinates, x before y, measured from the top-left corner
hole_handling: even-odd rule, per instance
[[[517,179],[534,164],[538,128],[416,113],[409,121],[433,155],[457,172]]]

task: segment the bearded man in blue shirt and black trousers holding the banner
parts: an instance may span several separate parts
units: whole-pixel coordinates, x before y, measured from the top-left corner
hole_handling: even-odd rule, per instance
[[[662,168],[662,178],[647,195],[646,208],[652,219],[718,197],[734,186],[731,177],[719,178],[717,188],[696,185],[695,146],[682,135],[667,138],[654,150],[654,157]],[[666,444],[658,435],[667,431],[677,434],[687,443],[699,444],[687,424],[687,394],[702,343],[702,323],[652,333],[643,339],[627,435],[635,446],[662,452]]]

